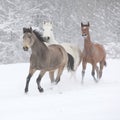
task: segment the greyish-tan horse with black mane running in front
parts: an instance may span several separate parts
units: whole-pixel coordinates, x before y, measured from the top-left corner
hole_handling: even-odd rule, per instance
[[[40,81],[44,74],[48,71],[51,82],[54,81],[54,71],[58,69],[58,73],[55,79],[57,84],[60,81],[63,69],[66,64],[70,69],[68,61],[68,54],[65,49],[60,45],[49,45],[44,44],[44,37],[41,35],[36,36],[32,28],[23,28],[23,50],[28,51],[31,48],[30,56],[30,67],[29,74],[26,79],[25,93],[28,92],[29,82],[32,75],[36,70],[41,70],[36,80],[39,92],[43,92],[43,88],[40,85]]]

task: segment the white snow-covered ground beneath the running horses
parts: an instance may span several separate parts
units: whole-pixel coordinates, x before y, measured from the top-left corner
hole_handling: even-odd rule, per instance
[[[29,64],[0,65],[0,120],[120,120],[120,60],[107,60],[103,77],[95,83],[87,65],[81,85],[81,65],[76,79],[65,70],[61,81],[51,86],[48,74],[39,93],[35,79],[24,94]]]

